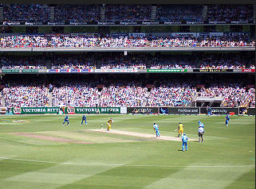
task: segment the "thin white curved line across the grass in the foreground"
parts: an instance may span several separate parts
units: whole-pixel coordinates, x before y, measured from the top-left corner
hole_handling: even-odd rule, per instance
[[[163,168],[253,168],[254,164],[249,165],[146,165],[146,164],[82,164],[82,163],[72,163],[72,162],[57,162],[57,161],[45,161],[45,160],[26,160],[10,157],[0,157],[2,160],[21,160],[28,162],[37,162],[37,163],[47,163],[47,164],[74,164],[74,165],[101,165],[101,166],[125,166],[125,167],[163,167]]]

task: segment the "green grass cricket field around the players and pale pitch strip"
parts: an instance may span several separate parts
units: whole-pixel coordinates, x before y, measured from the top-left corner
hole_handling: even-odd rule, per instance
[[[183,122],[189,138],[205,125],[204,143],[190,141],[182,152],[179,141],[160,141],[89,129],[106,128],[175,137]],[[0,117],[0,188],[255,188],[255,118],[225,116],[17,115]],[[14,122],[24,120],[25,122]],[[45,141],[14,133],[61,137],[75,142]]]

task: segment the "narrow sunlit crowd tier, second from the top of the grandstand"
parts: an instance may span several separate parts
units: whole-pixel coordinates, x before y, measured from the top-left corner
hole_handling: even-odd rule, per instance
[[[118,48],[118,47],[246,47],[255,46],[254,37],[218,37],[198,40],[195,37],[39,37],[9,36],[0,40],[1,48]]]

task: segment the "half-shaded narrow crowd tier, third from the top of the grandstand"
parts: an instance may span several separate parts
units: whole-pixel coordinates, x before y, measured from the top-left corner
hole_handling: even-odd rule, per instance
[[[173,69],[173,68],[218,68],[218,69],[254,69],[253,53],[193,53],[192,55],[174,55],[156,53],[61,53],[45,55],[0,55],[2,69],[46,69],[50,60],[51,69]]]

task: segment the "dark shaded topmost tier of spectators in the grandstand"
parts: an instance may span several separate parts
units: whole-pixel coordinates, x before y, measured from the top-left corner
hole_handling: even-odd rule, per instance
[[[3,5],[4,21],[26,21],[47,23],[50,19],[50,6],[40,4]],[[153,8],[156,7],[156,8]],[[98,21],[241,21],[254,22],[254,6],[250,5],[140,5],[140,4],[107,4],[107,5],[54,5],[54,23],[90,24]],[[152,17],[152,11],[156,16]],[[101,14],[103,13],[104,16]],[[209,22],[210,21],[210,22]]]

